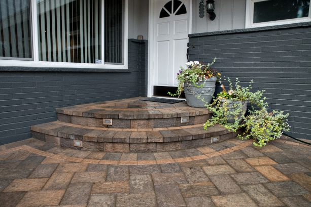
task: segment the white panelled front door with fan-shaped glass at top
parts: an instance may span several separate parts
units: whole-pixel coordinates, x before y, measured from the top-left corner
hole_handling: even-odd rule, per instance
[[[154,86],[177,86],[176,75],[187,62],[190,0],[155,0]]]

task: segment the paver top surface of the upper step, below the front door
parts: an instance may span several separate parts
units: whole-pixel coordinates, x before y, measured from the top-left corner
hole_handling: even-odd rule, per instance
[[[135,108],[136,107],[136,108]],[[57,108],[59,114],[92,118],[148,119],[210,114],[206,108],[193,108],[185,102],[165,104],[148,101],[100,102]]]

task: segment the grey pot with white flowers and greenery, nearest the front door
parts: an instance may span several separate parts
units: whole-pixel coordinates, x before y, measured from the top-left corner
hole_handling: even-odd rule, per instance
[[[211,66],[215,63],[204,64],[198,61],[190,61],[186,63],[186,67],[181,67],[177,73],[178,89],[171,96],[180,97],[184,92],[187,104],[191,107],[204,107],[206,103],[210,103],[215,92],[215,85],[221,74]]]

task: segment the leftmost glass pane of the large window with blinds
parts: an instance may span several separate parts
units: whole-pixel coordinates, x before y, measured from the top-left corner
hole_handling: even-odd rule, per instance
[[[30,4],[0,1],[0,58],[32,58]]]

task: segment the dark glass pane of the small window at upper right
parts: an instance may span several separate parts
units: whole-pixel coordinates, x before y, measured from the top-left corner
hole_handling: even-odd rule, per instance
[[[310,0],[270,0],[254,3],[253,23],[307,17]]]

